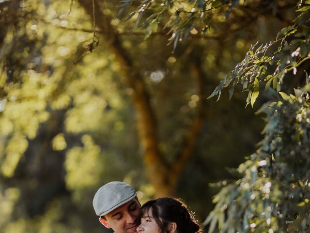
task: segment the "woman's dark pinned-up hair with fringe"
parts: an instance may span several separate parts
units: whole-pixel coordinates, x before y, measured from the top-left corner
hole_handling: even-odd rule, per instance
[[[194,216],[188,211],[184,201],[175,198],[158,198],[141,206],[139,219],[152,210],[161,233],[169,233],[169,223],[175,222],[177,233],[202,233]]]

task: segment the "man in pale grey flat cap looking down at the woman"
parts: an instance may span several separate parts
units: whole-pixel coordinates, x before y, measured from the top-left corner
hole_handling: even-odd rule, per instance
[[[124,182],[110,182],[98,189],[93,209],[99,221],[115,233],[136,233],[140,202],[135,189]]]

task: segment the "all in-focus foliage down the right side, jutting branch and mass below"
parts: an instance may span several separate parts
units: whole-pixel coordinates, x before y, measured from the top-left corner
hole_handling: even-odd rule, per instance
[[[213,232],[307,232],[309,230],[310,102],[309,52],[310,1],[299,4],[296,25],[283,28],[275,41],[250,48],[245,59],[226,76],[211,95],[220,96],[224,87],[230,95],[237,84],[248,91],[253,106],[262,83],[276,101],[265,103],[258,113],[266,114],[264,138],[256,153],[237,171],[242,178],[224,185],[215,196],[215,209],[205,223]],[[307,17],[306,17],[307,16]],[[279,36],[282,35],[282,38]],[[267,52],[279,43],[278,50]],[[305,66],[302,66],[305,65]],[[299,78],[298,75],[299,74]],[[285,79],[297,79],[294,85]],[[305,84],[302,84],[305,82]],[[300,87],[305,85],[304,87]],[[279,93],[279,94],[277,94]]]

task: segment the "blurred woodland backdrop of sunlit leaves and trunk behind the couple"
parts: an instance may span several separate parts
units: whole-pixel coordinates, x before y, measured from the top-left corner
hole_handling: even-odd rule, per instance
[[[117,0],[0,0],[0,232],[108,232],[92,200],[110,181],[141,203],[182,198],[203,221],[210,183],[236,179],[263,130],[246,94],[207,98],[290,22],[289,1],[271,2],[214,16],[173,51],[163,25],[145,39],[114,18]]]

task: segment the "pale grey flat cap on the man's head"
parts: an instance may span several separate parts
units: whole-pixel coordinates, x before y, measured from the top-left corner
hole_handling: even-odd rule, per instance
[[[93,209],[97,216],[104,216],[136,195],[136,190],[128,183],[113,181],[98,189],[93,198]]]

